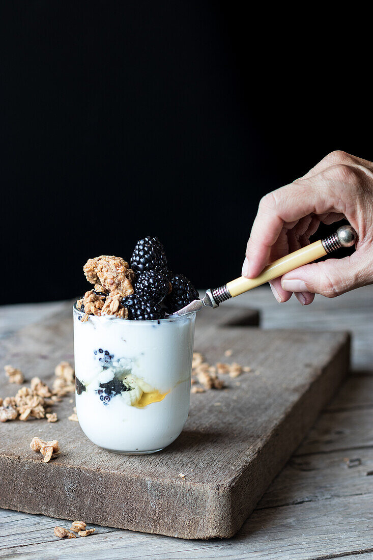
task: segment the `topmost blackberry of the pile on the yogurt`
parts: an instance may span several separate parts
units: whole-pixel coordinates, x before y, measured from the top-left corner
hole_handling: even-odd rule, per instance
[[[137,241],[130,258],[130,267],[136,274],[167,269],[165,250],[158,237],[144,237]]]

